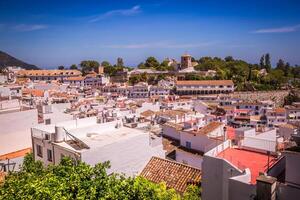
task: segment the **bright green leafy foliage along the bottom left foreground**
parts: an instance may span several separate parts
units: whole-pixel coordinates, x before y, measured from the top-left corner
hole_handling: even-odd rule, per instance
[[[6,177],[0,186],[0,199],[199,199],[200,189],[190,186],[180,196],[164,183],[154,184],[142,177],[108,175],[109,163],[95,167],[74,164],[64,158],[60,165],[43,167],[27,155],[19,172]]]

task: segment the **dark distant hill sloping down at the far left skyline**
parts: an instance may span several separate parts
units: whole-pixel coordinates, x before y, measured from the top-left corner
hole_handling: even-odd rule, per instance
[[[7,66],[17,66],[17,67],[22,67],[24,69],[39,69],[35,65],[25,63],[15,57],[12,57],[11,55],[3,51],[0,51],[0,69],[3,69]]]

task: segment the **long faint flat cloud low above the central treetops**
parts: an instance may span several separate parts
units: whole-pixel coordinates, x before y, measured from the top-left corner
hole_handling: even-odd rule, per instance
[[[215,45],[216,42],[204,42],[195,44],[170,44],[165,42],[158,43],[141,43],[141,44],[113,44],[103,45],[103,48],[112,49],[146,49],[146,48],[170,48],[170,49],[184,49],[184,48],[200,48]]]

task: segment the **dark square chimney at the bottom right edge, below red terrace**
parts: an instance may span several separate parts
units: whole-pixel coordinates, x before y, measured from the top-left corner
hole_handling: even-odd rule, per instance
[[[264,174],[256,179],[256,196],[260,200],[276,200],[277,179]]]

